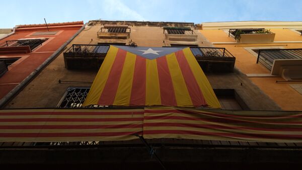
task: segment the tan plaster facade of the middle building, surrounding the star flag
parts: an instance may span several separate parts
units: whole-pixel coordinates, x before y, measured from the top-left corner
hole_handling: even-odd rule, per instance
[[[129,45],[131,42],[140,47],[189,46],[195,49],[194,54],[224,109],[280,109],[244,74],[234,69],[235,57],[232,53],[224,48],[213,48],[199,30],[195,30],[194,23],[119,21],[90,21],[67,45],[67,50],[58,55],[5,107],[73,107],[71,103],[80,105],[85,98],[80,103],[79,100],[70,101],[65,106],[62,101],[70,92],[77,91],[77,88],[82,95],[87,95],[88,91],[85,89],[90,88],[106,56],[106,49],[95,51],[95,47],[108,44]],[[203,54],[204,57],[200,57]],[[28,100],[24,101],[24,98]]]

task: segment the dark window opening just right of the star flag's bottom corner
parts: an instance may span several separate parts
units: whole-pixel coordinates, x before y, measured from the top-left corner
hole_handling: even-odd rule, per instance
[[[222,109],[226,110],[249,110],[234,89],[213,89]]]

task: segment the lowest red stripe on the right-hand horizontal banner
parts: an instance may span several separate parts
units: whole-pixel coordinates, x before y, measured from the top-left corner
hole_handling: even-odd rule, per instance
[[[223,136],[223,137],[238,137],[238,138],[302,139],[302,135],[300,134],[220,133],[220,132],[201,132],[201,131],[191,131],[191,130],[144,130],[143,134],[144,135],[189,134],[189,135]]]

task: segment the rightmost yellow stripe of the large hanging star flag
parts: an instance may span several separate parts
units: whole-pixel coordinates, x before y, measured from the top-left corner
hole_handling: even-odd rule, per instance
[[[221,108],[220,103],[219,103],[209,81],[207,80],[201,67],[197,63],[190,48],[185,48],[183,50],[183,52],[184,52],[184,55],[186,56],[189,66],[193,72],[193,75],[198,83],[198,86],[199,86],[208,106],[213,107],[213,108]]]

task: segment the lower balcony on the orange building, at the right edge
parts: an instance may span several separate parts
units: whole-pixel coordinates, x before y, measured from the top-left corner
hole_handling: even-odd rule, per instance
[[[302,79],[302,49],[259,50],[257,63],[285,80]]]

